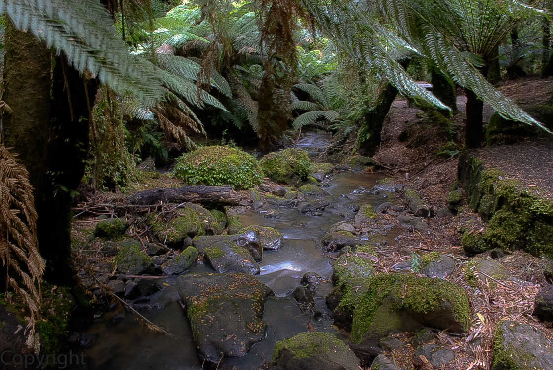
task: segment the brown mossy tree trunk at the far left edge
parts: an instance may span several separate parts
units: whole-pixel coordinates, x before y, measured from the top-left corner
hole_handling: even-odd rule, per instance
[[[51,52],[33,34],[15,29],[6,19],[3,99],[6,146],[14,147],[29,171],[35,204],[42,198],[50,122]]]

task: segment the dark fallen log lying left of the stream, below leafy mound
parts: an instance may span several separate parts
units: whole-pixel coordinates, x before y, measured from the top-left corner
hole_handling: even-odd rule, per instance
[[[145,190],[129,197],[132,204],[156,203],[200,203],[205,205],[237,205],[240,195],[232,186],[184,186],[180,188],[158,188]]]

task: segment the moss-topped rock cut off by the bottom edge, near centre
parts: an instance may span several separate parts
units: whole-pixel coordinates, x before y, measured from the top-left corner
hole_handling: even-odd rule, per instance
[[[276,342],[270,370],[359,370],[359,358],[325,332],[302,332]]]

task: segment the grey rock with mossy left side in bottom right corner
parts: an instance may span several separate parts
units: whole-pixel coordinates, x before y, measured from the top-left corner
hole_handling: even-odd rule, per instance
[[[494,332],[492,370],[550,369],[551,342],[519,321],[500,321]]]

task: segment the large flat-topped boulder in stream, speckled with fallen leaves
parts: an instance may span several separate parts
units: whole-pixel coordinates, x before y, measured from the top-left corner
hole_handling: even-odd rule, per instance
[[[272,290],[251,275],[184,274],[176,288],[186,306],[200,361],[240,357],[262,341],[265,300]]]

